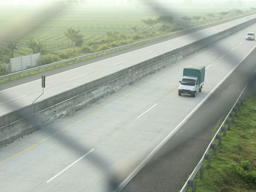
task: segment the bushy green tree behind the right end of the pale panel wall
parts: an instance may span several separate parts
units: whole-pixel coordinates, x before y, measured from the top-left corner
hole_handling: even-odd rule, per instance
[[[33,54],[41,53],[43,55],[47,54],[46,42],[44,40],[40,41],[38,38],[34,39],[33,37],[29,38],[26,42],[26,46],[32,49]]]

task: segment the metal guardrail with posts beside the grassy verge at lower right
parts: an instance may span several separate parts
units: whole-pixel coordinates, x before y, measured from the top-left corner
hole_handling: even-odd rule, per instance
[[[244,89],[242,90],[242,92],[239,95],[238,99],[236,100],[234,106],[232,107],[232,109],[230,110],[228,115],[226,116],[225,120],[221,124],[220,128],[218,129],[218,131],[216,132],[216,134],[212,138],[212,141],[210,142],[209,146],[207,147],[206,151],[204,152],[204,155],[202,156],[202,159],[196,165],[196,167],[194,168],[193,172],[190,174],[188,180],[186,181],[186,183],[184,184],[184,186],[182,187],[180,192],[186,192],[188,187],[192,187],[192,191],[193,192],[196,191],[196,181],[194,180],[194,178],[195,178],[197,172],[200,169],[201,169],[200,177],[203,177],[204,167],[202,166],[202,164],[203,164],[205,159],[208,160],[207,164],[208,164],[208,166],[210,166],[210,161],[211,161],[212,154],[209,154],[209,152],[210,152],[211,149],[213,149],[213,154],[216,155],[217,144],[215,144],[214,142],[218,139],[219,140],[218,143],[221,144],[222,135],[220,134],[220,132],[223,131],[223,136],[226,136],[226,128],[227,127],[224,126],[224,125],[228,124],[228,129],[230,129],[230,124],[231,124],[231,122],[234,121],[234,116],[236,116],[237,115],[237,111],[240,110],[240,103],[239,103],[239,101],[242,102],[245,99],[245,96],[243,95],[243,92],[246,89],[246,87],[247,87],[247,84],[244,87]]]

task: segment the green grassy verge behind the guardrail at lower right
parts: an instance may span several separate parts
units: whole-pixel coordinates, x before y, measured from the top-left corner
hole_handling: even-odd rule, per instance
[[[195,177],[196,192],[256,191],[255,104],[256,92],[246,98],[226,137],[222,137],[222,144],[217,144],[211,166],[204,161],[203,179],[200,179],[200,171]],[[192,192],[192,188],[187,192]]]

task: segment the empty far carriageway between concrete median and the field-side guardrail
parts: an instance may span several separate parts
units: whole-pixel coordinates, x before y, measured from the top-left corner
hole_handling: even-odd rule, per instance
[[[36,100],[36,102],[96,80],[102,76],[133,66],[134,64],[138,64],[144,60],[154,58],[160,54],[164,54],[181,46],[190,44],[206,36],[216,34],[222,30],[236,26],[255,17],[256,15],[251,15],[246,18],[241,18],[169,41],[154,44],[134,52],[128,52],[126,54],[93,62],[72,70],[53,74],[52,76],[46,76],[46,88],[44,89],[44,94]],[[42,75],[44,74],[42,73]],[[40,94],[42,94],[41,79],[12,88],[6,88],[4,90],[0,88],[0,116],[32,104]]]

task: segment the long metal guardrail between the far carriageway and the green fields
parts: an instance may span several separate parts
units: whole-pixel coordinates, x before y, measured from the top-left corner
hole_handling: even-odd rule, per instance
[[[103,50],[103,51],[87,54],[87,55],[84,55],[84,56],[79,56],[79,57],[71,58],[71,59],[68,59],[68,60],[54,62],[54,63],[51,63],[51,64],[46,64],[46,65],[38,66],[38,67],[35,67],[35,68],[30,68],[30,69],[19,71],[19,72],[15,72],[15,73],[12,73],[12,74],[0,76],[0,80],[4,79],[4,78],[9,78],[10,79],[12,76],[16,76],[16,75],[20,76],[23,73],[30,73],[30,72],[32,72],[34,70],[38,70],[39,71],[42,68],[47,68],[47,67],[55,66],[55,65],[58,65],[58,64],[68,63],[70,61],[74,62],[74,61],[76,61],[78,59],[81,60],[82,58],[86,58],[87,59],[87,57],[90,57],[90,56],[91,57],[94,56],[94,55],[98,56],[98,54],[108,53],[108,52],[111,52],[111,51],[114,51],[114,50],[118,50],[118,49],[122,49],[122,48],[128,48],[129,46],[134,46],[134,45],[142,44],[142,43],[145,43],[145,42],[150,42],[150,41],[154,41],[154,40],[157,40],[157,39],[166,38],[168,36],[175,36],[175,35],[182,34],[182,33],[185,33],[185,32],[189,32],[189,31],[192,31],[192,30],[196,30],[196,29],[199,29],[199,28],[204,28],[204,27],[207,27],[207,26],[212,26],[212,25],[220,24],[220,23],[227,22],[227,21],[230,21],[230,20],[235,20],[235,19],[238,19],[238,18],[246,17],[246,16],[249,16],[249,15],[252,15],[252,14],[255,14],[255,13],[250,13],[250,14],[243,15],[243,16],[237,16],[237,17],[234,17],[234,18],[229,18],[229,19],[226,19],[226,20],[221,20],[221,21],[217,21],[217,22],[214,22],[214,23],[205,24],[205,25],[189,28],[189,29],[186,29],[186,30],[181,30],[181,31],[178,31],[178,32],[173,32],[173,33],[170,33],[170,34],[166,34],[166,35],[150,38],[150,39],[147,39],[147,40],[142,40],[142,41],[139,41],[139,42],[134,42],[134,43],[123,45],[123,46],[119,46],[119,47],[116,47],[116,48],[111,48],[111,49],[108,49],[108,50]]]

